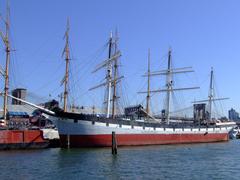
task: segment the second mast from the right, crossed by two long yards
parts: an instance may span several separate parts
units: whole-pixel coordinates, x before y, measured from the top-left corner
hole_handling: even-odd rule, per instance
[[[172,91],[172,73],[171,73],[171,49],[168,51],[168,69],[167,69],[167,109],[166,109],[166,122],[169,124],[170,119],[170,96]]]

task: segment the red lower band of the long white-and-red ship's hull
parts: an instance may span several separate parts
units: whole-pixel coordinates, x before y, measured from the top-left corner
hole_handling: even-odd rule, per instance
[[[228,141],[227,133],[221,134],[116,134],[118,146],[187,144]],[[112,135],[60,135],[62,147],[109,147]]]

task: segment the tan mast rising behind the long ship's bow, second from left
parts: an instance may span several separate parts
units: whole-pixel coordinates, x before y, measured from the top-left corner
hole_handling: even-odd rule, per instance
[[[64,77],[64,104],[63,104],[63,110],[64,112],[67,111],[67,100],[68,100],[68,80],[69,80],[69,19],[67,20],[67,30],[65,32],[65,48],[64,48],[64,54],[65,54],[65,61],[66,61],[66,68],[65,68],[65,77]]]

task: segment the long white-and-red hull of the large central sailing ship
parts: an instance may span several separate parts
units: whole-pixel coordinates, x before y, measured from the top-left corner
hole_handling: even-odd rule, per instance
[[[229,140],[230,128],[151,128],[61,119],[58,130],[62,147],[77,148],[109,147],[112,132],[118,146],[221,142]]]

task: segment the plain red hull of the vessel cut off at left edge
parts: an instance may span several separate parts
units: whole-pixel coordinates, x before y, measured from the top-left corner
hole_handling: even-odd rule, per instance
[[[0,150],[42,149],[48,145],[41,130],[0,130]]]

